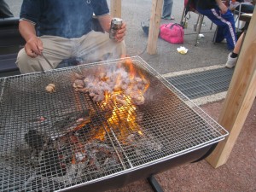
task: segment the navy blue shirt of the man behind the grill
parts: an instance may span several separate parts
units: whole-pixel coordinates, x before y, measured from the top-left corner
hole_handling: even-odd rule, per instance
[[[91,31],[92,15],[109,13],[106,0],[23,0],[20,19],[36,24],[37,35],[80,38]]]

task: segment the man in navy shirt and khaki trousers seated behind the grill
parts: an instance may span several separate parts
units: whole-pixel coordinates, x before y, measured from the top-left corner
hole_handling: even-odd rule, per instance
[[[105,33],[91,30],[93,14]],[[120,58],[125,55],[126,25],[113,40],[107,33],[111,20],[107,0],[23,0],[19,30],[26,44],[17,56],[20,73],[53,69],[74,57],[84,62]]]

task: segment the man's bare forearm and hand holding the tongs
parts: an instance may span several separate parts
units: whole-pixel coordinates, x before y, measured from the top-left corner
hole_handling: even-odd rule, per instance
[[[26,40],[26,54],[31,57],[41,55],[43,51],[43,43],[37,37],[35,26],[27,20],[20,20],[19,30],[21,36]]]

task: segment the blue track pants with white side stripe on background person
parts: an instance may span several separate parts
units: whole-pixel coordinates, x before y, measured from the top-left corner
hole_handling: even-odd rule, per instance
[[[222,15],[220,14],[220,9],[216,6],[214,9],[199,9],[197,11],[201,15],[206,15],[213,23],[218,26],[218,32],[216,36],[216,42],[219,43],[224,38],[227,40],[228,49],[232,50],[236,45],[236,27],[234,16],[232,15],[230,9]]]

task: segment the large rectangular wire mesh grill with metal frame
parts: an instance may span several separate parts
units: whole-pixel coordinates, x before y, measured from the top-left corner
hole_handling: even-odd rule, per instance
[[[153,87],[148,90],[146,99],[150,102],[146,103],[146,107],[140,107],[143,111],[143,128],[146,130],[145,143],[151,141],[153,147],[143,149],[146,154],[136,154],[132,151],[131,146],[125,146],[121,141],[117,139],[118,132],[111,129],[107,133],[109,141],[113,145],[115,152],[120,152],[124,157],[124,161],[117,167],[108,172],[101,172],[100,174],[91,174],[89,172],[80,172],[81,175],[70,176],[73,182],[67,182],[65,179],[63,183],[59,182],[61,178],[50,179],[45,177],[45,186],[43,179],[39,179],[40,185],[37,185],[37,173],[30,169],[27,171],[24,166],[27,166],[29,160],[22,160],[24,156],[29,155],[19,148],[23,146],[27,148],[24,142],[24,135],[31,126],[37,126],[41,131],[42,126],[47,127],[47,134],[55,138],[60,137],[60,132],[52,130],[55,125],[50,120],[47,125],[38,125],[35,123],[27,122],[27,117],[38,117],[38,110],[40,113],[47,113],[53,116],[55,108],[65,110],[67,113],[73,113],[77,110],[83,111],[88,108],[99,108],[96,103],[84,102],[84,105],[80,105],[81,101],[84,101],[84,95],[81,96],[77,93],[69,91],[69,97],[67,96],[67,90],[72,87],[71,80],[73,79],[73,73],[86,73],[90,68],[95,67],[108,67],[116,65],[120,62],[125,62],[127,59],[131,60],[137,67],[137,70],[143,71],[147,78],[150,80]],[[63,79],[66,77],[67,79]],[[51,82],[59,82],[57,85],[57,99],[55,94],[49,95],[44,90],[46,84]],[[32,87],[32,89],[29,89]],[[154,91],[156,89],[156,91]],[[112,61],[102,61],[90,64],[79,65],[77,67],[67,67],[55,70],[46,71],[45,73],[30,73],[19,76],[7,77],[0,79],[0,113],[5,114],[0,118],[0,137],[3,147],[0,150],[0,178],[2,179],[1,190],[17,189],[46,189],[46,190],[77,190],[77,189],[108,189],[106,185],[110,184],[110,188],[116,188],[119,184],[125,184],[131,182],[134,179],[140,177],[147,177],[153,172],[160,172],[166,170],[166,167],[172,167],[180,165],[185,162],[192,162],[198,160],[206,154],[212,146],[215,146],[219,141],[224,140],[224,137],[228,135],[228,132],[218,123],[203,112],[201,108],[195,106],[193,102],[189,100],[187,96],[184,96],[179,90],[177,90],[172,84],[170,84],[165,78],[157,73],[152,67],[150,67],[139,56],[124,58]],[[18,93],[13,95],[13,93]],[[161,95],[162,94],[162,95]],[[32,97],[31,97],[32,96]],[[44,107],[44,98],[47,98]],[[21,99],[20,99],[21,97]],[[73,97],[74,100],[69,98]],[[87,100],[88,96],[85,96]],[[155,98],[160,98],[160,101]],[[55,104],[57,100],[61,101],[60,105]],[[77,103],[79,101],[79,104]],[[170,104],[174,103],[174,106]],[[33,104],[35,107],[30,108]],[[13,108],[9,108],[9,106]],[[21,105],[21,108],[20,108]],[[23,107],[22,106],[26,106]],[[27,107],[28,106],[28,107]],[[78,109],[79,106],[79,109]],[[170,108],[168,108],[170,107]],[[25,109],[24,109],[25,108]],[[28,110],[29,109],[29,110]],[[10,110],[10,111],[9,111]],[[21,113],[17,110],[21,110]],[[25,111],[24,111],[25,110]],[[100,109],[101,110],[101,109]],[[170,110],[170,111],[169,111]],[[10,115],[15,114],[17,115]],[[66,112],[65,112],[66,114]],[[183,116],[183,119],[181,116]],[[58,115],[56,115],[58,116]],[[101,116],[101,114],[99,114]],[[193,127],[198,125],[198,127]],[[100,126],[100,125],[98,125]],[[20,128],[19,128],[20,127]],[[170,127],[170,128],[169,128]],[[175,129],[178,127],[178,129]],[[204,127],[205,130],[204,130]],[[112,127],[113,128],[113,127]],[[189,130],[189,131],[188,131]],[[191,130],[191,131],[190,131]],[[171,137],[169,137],[171,135]],[[153,138],[153,139],[152,139]],[[13,143],[15,141],[15,144]],[[10,147],[9,147],[10,146]],[[148,145],[146,145],[148,147]],[[150,145],[151,146],[151,145]],[[145,146],[144,146],[145,147]],[[24,149],[23,148],[23,149]],[[155,149],[155,148],[160,148]],[[131,152],[132,151],[132,152]],[[13,155],[17,153],[18,155]],[[140,153],[143,153],[140,151]],[[148,154],[147,154],[148,153]],[[149,155],[150,154],[150,155]],[[10,155],[10,156],[9,156]],[[10,159],[10,160],[9,160]],[[18,160],[18,165],[15,161]],[[20,160],[20,162],[19,162]],[[9,167],[9,171],[4,167]],[[50,166],[52,168],[52,166]],[[25,174],[25,176],[21,176]],[[18,178],[17,175],[20,177]],[[86,175],[84,177],[84,175]],[[80,178],[83,176],[82,178]],[[6,178],[7,177],[7,178]],[[22,181],[22,179],[24,179]],[[34,179],[35,182],[27,180]],[[68,179],[67,179],[68,180]],[[61,184],[60,184],[61,183]],[[97,186],[97,183],[103,184],[103,188]],[[34,187],[34,188],[33,188]]]

